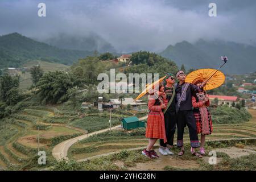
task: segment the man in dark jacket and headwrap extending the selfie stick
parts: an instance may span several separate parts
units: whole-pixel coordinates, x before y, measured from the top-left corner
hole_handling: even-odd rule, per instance
[[[189,129],[189,138],[191,142],[191,153],[198,157],[202,157],[195,151],[195,148],[200,147],[199,139],[196,131],[196,119],[192,110],[192,94],[194,92],[202,92],[206,82],[202,85],[196,86],[185,82],[186,75],[183,71],[176,73],[176,77],[179,80],[175,84],[176,102],[175,108],[177,113],[177,147],[181,147],[181,151],[178,155],[184,154],[183,147],[183,134],[184,128],[187,125]]]

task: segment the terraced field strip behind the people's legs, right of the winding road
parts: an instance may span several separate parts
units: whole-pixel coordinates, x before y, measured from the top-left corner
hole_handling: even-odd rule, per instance
[[[249,110],[249,112],[253,116],[249,122],[232,125],[213,125],[213,133],[207,136],[207,140],[256,137],[256,110]],[[185,142],[189,142],[188,139],[188,134],[184,134]],[[98,140],[96,137],[95,139],[86,138],[77,142],[69,148],[68,158],[81,160],[95,155],[146,145],[147,139],[144,135],[118,137],[109,133],[105,137],[99,137]]]

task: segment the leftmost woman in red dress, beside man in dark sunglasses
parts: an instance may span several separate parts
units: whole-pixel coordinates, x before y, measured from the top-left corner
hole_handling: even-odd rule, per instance
[[[163,82],[159,83],[159,90],[154,92],[151,90],[150,99],[148,100],[148,113],[146,138],[148,138],[148,146],[142,151],[143,155],[148,158],[159,158],[158,154],[153,150],[156,140],[163,139],[167,142],[166,130],[164,127],[163,109],[166,108],[166,93],[164,93]]]

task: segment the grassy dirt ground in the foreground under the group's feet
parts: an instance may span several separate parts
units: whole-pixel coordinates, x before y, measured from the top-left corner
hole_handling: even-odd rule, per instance
[[[185,144],[185,150],[189,150],[189,144]],[[256,140],[225,140],[207,142],[205,147],[209,151],[216,151],[216,164],[209,164],[210,156],[203,158],[192,156],[185,152],[183,156],[160,156],[159,159],[148,159],[141,154],[141,150],[121,150],[117,154],[101,156],[85,162],[76,162],[71,159],[68,162],[60,160],[52,167],[54,170],[139,170],[139,171],[228,171],[228,170],[255,170],[256,169]],[[175,147],[174,152],[179,150]]]

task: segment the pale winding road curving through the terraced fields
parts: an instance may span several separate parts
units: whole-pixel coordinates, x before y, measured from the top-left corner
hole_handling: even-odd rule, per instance
[[[144,117],[139,118],[139,120],[144,120],[147,119],[147,115]],[[112,127],[112,130],[118,129],[118,127],[121,127],[121,125],[117,125]],[[52,155],[56,160],[60,160],[61,158],[68,159],[68,149],[71,147],[74,143],[79,142],[79,140],[88,138],[92,135],[99,134],[99,133],[104,133],[105,131],[109,131],[110,128],[108,129],[103,129],[103,130],[98,130],[94,131],[93,133],[81,135],[79,137],[75,137],[72,139],[65,140],[64,142],[61,142],[57,144],[53,149],[52,149]]]

